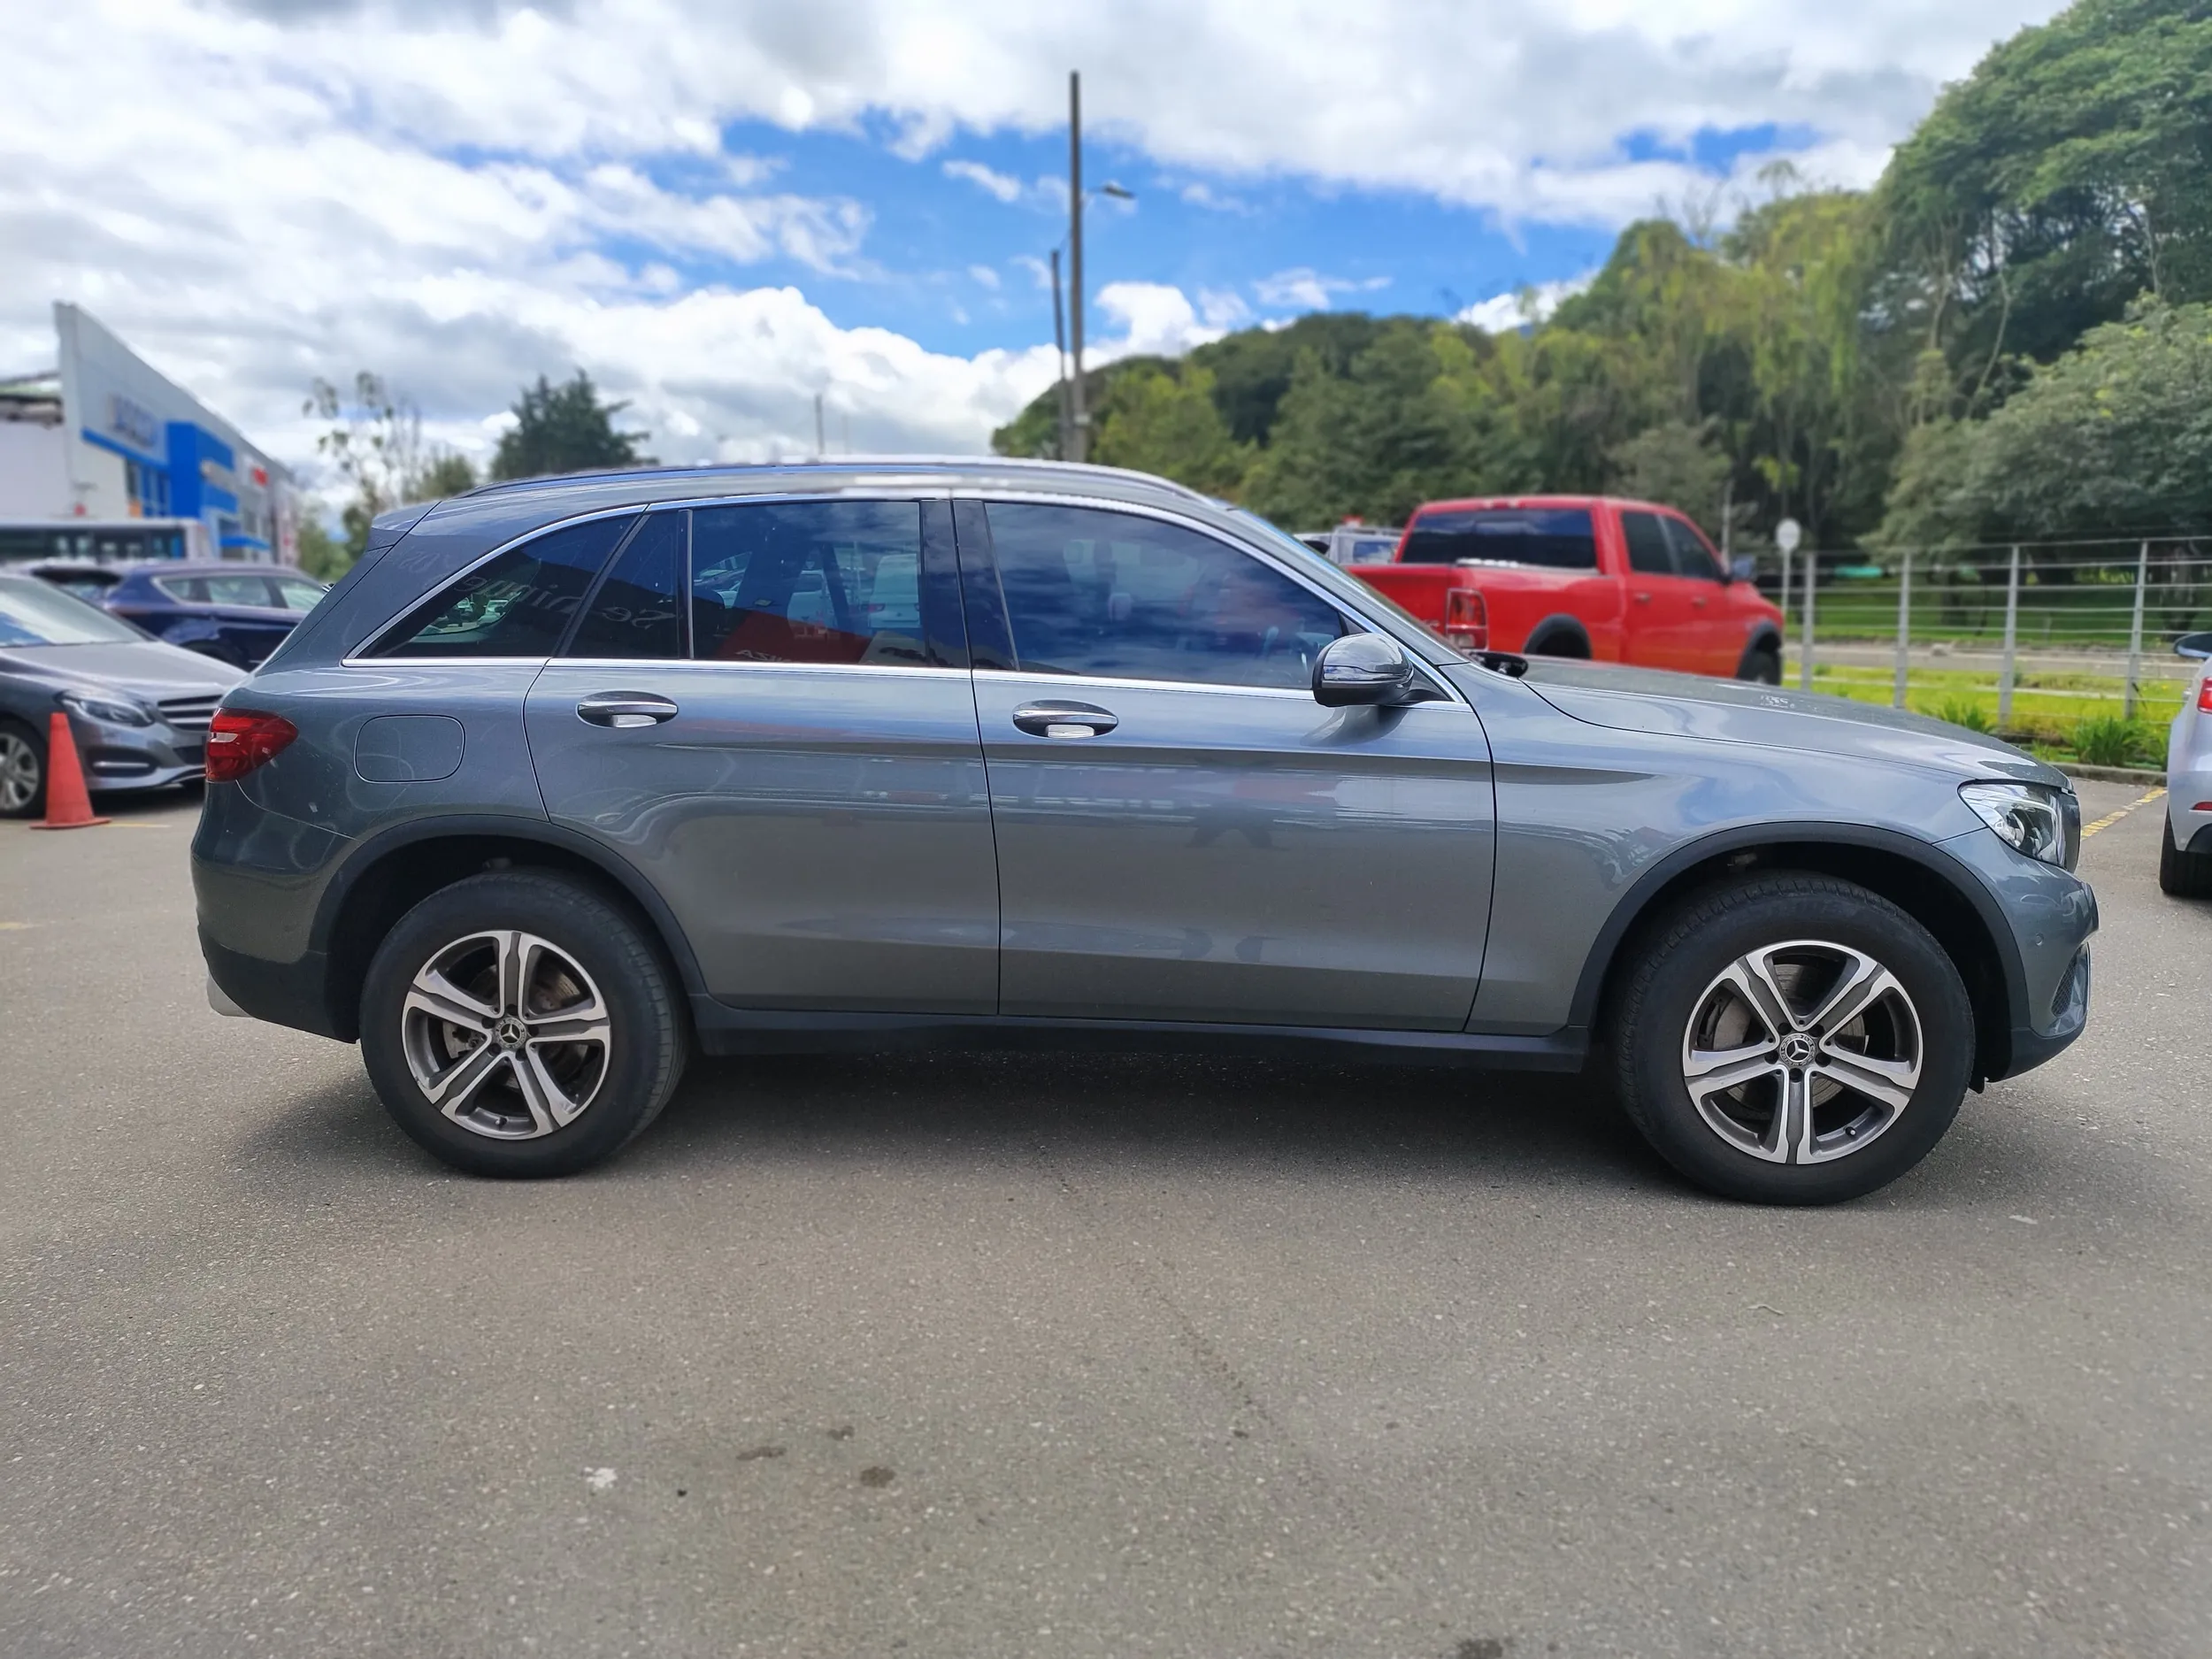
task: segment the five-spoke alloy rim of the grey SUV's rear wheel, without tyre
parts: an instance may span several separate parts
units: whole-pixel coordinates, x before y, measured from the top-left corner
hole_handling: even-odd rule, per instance
[[[400,1004],[425,1099],[476,1135],[526,1141],[573,1124],[606,1079],[613,1015],[582,964],[491,929],[436,951]]]

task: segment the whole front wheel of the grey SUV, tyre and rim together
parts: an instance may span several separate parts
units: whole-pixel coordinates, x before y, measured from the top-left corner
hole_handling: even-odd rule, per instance
[[[1860,975],[1874,993],[1840,1024],[1820,1018]],[[1975,1024],[1920,922],[1847,880],[1776,872],[1708,887],[1644,936],[1608,1046],[1630,1121],[1681,1175],[1750,1203],[1838,1203],[1896,1181],[1951,1128]],[[1694,1060],[1714,1053],[1743,1060]],[[1856,1082],[1854,1060],[1874,1062]],[[1732,1075],[1745,1082],[1714,1086]]]

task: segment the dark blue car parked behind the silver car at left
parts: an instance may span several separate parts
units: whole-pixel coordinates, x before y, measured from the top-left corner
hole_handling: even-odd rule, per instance
[[[33,564],[31,573],[201,657],[254,668],[314,611],[325,586],[272,564]]]

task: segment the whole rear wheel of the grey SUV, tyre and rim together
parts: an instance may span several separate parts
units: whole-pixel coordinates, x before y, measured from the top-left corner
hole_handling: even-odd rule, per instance
[[[431,894],[376,947],[361,991],[361,1057],[385,1108],[469,1175],[575,1175],[613,1157],[668,1104],[688,1051],[659,951],[564,876],[495,872]]]

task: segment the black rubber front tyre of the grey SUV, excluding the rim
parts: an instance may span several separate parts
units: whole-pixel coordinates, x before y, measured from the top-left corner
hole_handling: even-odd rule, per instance
[[[1739,956],[1794,938],[1849,945],[1898,975],[1920,1015],[1920,1086],[1869,1146],[1827,1164],[1767,1164],[1723,1141],[1690,1102],[1681,1040],[1705,987]],[[1752,878],[1692,900],[1657,929],[1630,989],[1621,1091],[1630,1117],[1699,1186],[1756,1203],[1838,1203],[1905,1175],[1958,1117],[1975,1026],[1958,969],[1924,927],[1878,894],[1823,876]]]

